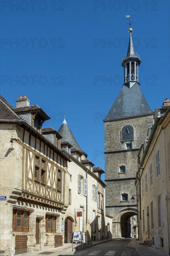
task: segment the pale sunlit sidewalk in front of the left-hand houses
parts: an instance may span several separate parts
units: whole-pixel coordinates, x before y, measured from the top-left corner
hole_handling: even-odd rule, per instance
[[[93,246],[99,243],[105,243],[107,241],[110,241],[111,239],[105,239],[105,240],[99,240],[99,241],[93,241],[92,244],[89,243],[86,246],[83,246],[82,248],[86,248],[89,246]],[[73,251],[77,249],[77,244],[73,243]],[[78,250],[81,249],[81,244],[78,243]],[[63,246],[57,247],[57,248],[51,248],[51,249],[46,249],[45,247],[37,252],[26,252],[22,254],[17,254],[17,256],[45,256],[45,255],[50,255],[50,256],[59,256],[63,255],[65,253],[72,252],[72,243],[65,243]]]

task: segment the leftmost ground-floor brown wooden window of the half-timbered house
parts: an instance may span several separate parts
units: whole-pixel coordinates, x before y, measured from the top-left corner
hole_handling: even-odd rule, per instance
[[[13,231],[29,231],[29,215],[28,211],[13,209]]]

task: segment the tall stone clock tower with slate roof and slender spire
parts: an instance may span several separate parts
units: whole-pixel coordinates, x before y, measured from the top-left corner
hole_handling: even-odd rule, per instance
[[[106,213],[113,216],[113,237],[133,236],[132,220],[137,219],[137,155],[153,124],[153,112],[140,90],[141,61],[133,46],[132,28],[129,33],[128,51],[122,61],[124,84],[104,119]],[[132,195],[135,202],[131,202]]]

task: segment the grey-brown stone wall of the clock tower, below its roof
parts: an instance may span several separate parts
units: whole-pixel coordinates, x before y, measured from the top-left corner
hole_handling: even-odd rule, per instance
[[[137,204],[131,203],[132,195],[136,195],[137,155],[147,135],[146,127],[152,126],[152,123],[152,114],[105,122],[106,212],[113,216],[113,236],[116,237],[122,236],[119,223],[124,210],[137,214]],[[121,129],[125,125],[133,126],[133,141],[121,141]],[[126,149],[128,142],[132,142],[130,150]],[[125,166],[125,173],[120,172],[122,165]],[[126,202],[121,198],[123,194],[128,196]],[[116,221],[120,212],[122,215]]]

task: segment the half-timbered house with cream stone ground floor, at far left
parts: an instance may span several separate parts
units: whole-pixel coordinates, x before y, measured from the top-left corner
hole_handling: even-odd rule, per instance
[[[62,245],[71,161],[60,150],[61,136],[41,129],[50,117],[26,96],[16,103],[13,108],[0,97],[0,243],[2,255],[10,256]]]

